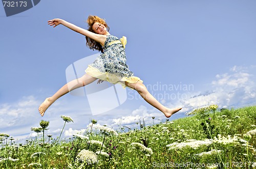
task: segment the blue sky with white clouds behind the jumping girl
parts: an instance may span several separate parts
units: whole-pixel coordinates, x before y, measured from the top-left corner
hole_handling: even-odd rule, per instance
[[[115,129],[136,127],[142,118],[151,124],[152,116],[165,120],[131,90],[121,106],[99,116],[92,116],[86,97],[67,94],[40,117],[40,103],[67,82],[66,68],[98,53],[82,35],[63,25],[49,26],[53,18],[87,29],[88,15],[98,15],[109,24],[110,34],[126,36],[127,64],[134,74],[148,88],[157,86],[150,92],[161,103],[183,107],[170,120],[212,103],[255,105],[255,6],[255,1],[237,0],[41,1],[10,17],[0,7],[0,132],[30,138],[30,127],[49,120],[47,132],[58,135],[60,115],[74,119],[65,136],[87,128],[91,119]]]

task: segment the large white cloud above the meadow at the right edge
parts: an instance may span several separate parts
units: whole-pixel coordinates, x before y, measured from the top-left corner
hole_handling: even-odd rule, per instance
[[[241,107],[256,103],[255,66],[234,66],[228,73],[217,74],[209,91],[201,91],[168,106],[180,105],[185,111],[209,104],[222,107]],[[183,111],[184,111],[183,110]]]

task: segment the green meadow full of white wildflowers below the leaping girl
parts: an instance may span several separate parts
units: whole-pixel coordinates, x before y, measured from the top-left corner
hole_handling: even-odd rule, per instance
[[[72,123],[61,116],[63,129]],[[84,133],[53,138],[49,121],[36,138],[16,144],[0,133],[0,168],[256,168],[256,106],[200,107],[187,117],[113,130],[91,121]]]

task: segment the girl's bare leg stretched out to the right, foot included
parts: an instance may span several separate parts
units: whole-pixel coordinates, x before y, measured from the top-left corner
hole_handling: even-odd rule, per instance
[[[147,91],[145,85],[143,85],[142,82],[138,81],[136,83],[129,83],[125,81],[125,85],[136,90],[140,96],[148,103],[150,103],[152,106],[156,107],[160,111],[163,112],[164,116],[166,118],[171,117],[173,114],[181,110],[181,108],[167,108],[159,101],[157,101],[151,94],[150,92]]]

